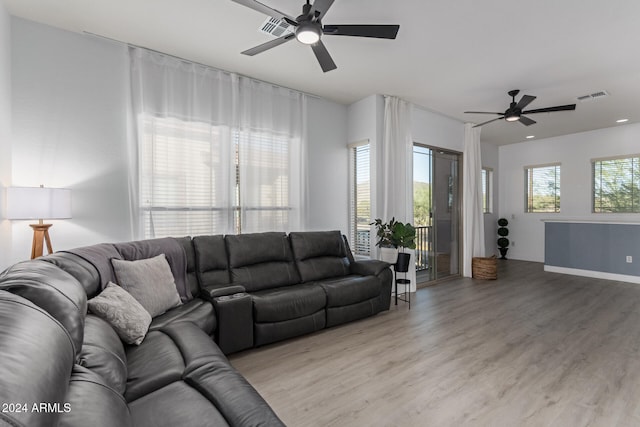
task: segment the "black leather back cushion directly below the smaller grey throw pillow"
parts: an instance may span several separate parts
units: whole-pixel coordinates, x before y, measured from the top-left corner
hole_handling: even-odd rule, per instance
[[[84,344],[78,363],[99,374],[118,393],[124,393],[127,385],[124,346],[113,328],[93,314],[85,319]]]

